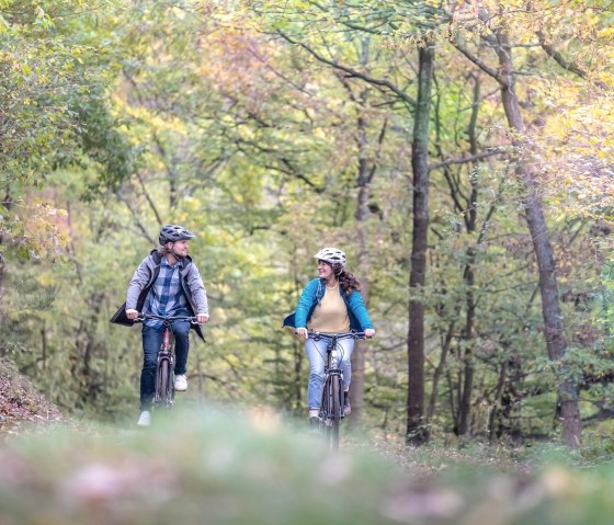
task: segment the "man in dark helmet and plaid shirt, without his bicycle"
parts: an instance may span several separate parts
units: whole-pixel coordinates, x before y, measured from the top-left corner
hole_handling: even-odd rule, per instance
[[[139,312],[155,316],[196,317],[198,323],[209,319],[207,293],[196,265],[187,255],[187,241],[194,235],[182,226],[167,225],[158,237],[160,246],[136,269],[128,285],[126,303],[111,322],[132,326]],[[174,321],[175,384],[178,391],[187,389],[185,377],[190,351],[190,328],[204,341],[200,324]],[[140,416],[137,424],[151,422],[150,407],[156,389],[156,359],[162,342],[163,323],[159,319],[143,322],[143,369],[140,373]]]

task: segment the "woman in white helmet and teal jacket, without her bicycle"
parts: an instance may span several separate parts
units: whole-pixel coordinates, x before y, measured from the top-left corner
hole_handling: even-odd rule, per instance
[[[318,260],[318,278],[310,281],[296,306],[296,311],[288,316],[284,326],[295,328],[298,336],[305,339],[305,352],[309,359],[309,383],[307,385],[307,402],[309,404],[309,422],[319,424],[327,338],[326,334],[346,333],[351,330],[364,332],[373,338],[375,330],[360,292],[357,279],[345,269],[345,253],[337,248],[323,248],[314,255]],[[323,338],[307,339],[307,330],[319,332]],[[344,402],[343,412],[348,415],[350,407],[350,383],[352,380],[351,356],[354,350],[353,339],[338,342],[340,368],[343,370]]]

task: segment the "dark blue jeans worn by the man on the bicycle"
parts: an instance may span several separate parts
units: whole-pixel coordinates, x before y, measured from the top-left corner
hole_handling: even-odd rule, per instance
[[[143,369],[140,370],[140,410],[149,410],[156,392],[156,362],[162,345],[164,328],[143,326]],[[174,373],[185,374],[187,352],[190,351],[190,322],[174,321]]]

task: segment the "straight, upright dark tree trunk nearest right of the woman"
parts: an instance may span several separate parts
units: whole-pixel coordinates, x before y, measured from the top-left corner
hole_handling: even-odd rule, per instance
[[[429,45],[419,50],[418,100],[413,125],[411,164],[413,172],[413,237],[411,242],[411,272],[409,277],[409,330],[407,335],[408,445],[420,445],[429,440],[424,418],[424,303],[427,277],[427,246],[429,236],[429,123],[431,114],[431,84],[434,52]]]

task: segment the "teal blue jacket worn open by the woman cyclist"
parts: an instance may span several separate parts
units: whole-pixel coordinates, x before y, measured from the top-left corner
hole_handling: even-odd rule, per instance
[[[353,290],[350,295],[346,295],[343,288],[340,292],[348,308],[350,330],[364,332],[367,328],[373,328],[362,294],[359,290]],[[309,281],[298,298],[296,310],[284,319],[284,327],[307,328],[307,321],[311,318],[316,306],[322,300],[325,293],[325,279]]]

